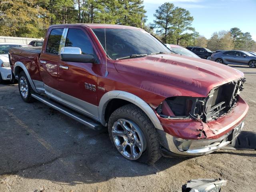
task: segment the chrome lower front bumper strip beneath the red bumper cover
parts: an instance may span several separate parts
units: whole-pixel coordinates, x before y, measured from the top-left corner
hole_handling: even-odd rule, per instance
[[[221,136],[218,139],[200,139],[200,140],[187,140],[182,138],[176,138],[164,131],[158,130],[160,135],[160,144],[166,149],[165,152],[172,154],[178,154],[178,156],[200,156],[212,153],[218,149],[228,145],[234,138],[236,138],[244,126],[244,122],[239,124],[236,128],[239,128],[239,132],[235,134],[235,137],[230,139],[230,132]],[[234,128],[234,129],[236,129]]]

